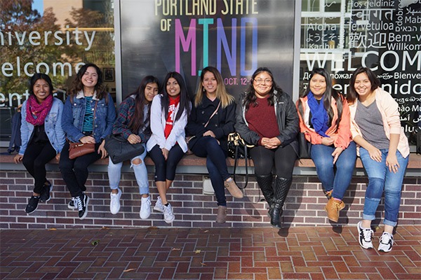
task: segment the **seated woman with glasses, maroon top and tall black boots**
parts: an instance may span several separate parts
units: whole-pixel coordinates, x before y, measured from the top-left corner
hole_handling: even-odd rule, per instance
[[[269,204],[270,223],[281,228],[283,203],[290,189],[298,156],[298,114],[290,96],[276,85],[272,72],[259,68],[251,77],[250,87],[240,97],[235,129],[254,144],[250,156],[260,190]],[[272,169],[276,179],[272,187]]]

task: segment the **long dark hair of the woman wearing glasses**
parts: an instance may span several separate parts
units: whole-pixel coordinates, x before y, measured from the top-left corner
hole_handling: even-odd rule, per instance
[[[256,97],[255,89],[253,87],[253,82],[256,76],[262,72],[267,72],[272,79],[272,87],[269,91],[269,98],[267,99],[267,103],[269,106],[274,106],[275,104],[275,98],[274,97],[280,97],[281,94],[283,94],[283,90],[279,85],[276,85],[274,80],[274,75],[272,74],[272,71],[270,71],[267,67],[260,67],[258,68],[253,75],[250,78],[250,85],[248,86],[248,90],[246,90],[246,96],[243,99],[243,106],[246,106],[246,110],[250,107],[250,104],[253,104],[253,106],[257,106],[256,100],[258,97]]]

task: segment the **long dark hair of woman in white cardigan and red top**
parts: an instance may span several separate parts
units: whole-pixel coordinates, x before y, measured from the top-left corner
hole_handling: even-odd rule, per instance
[[[161,109],[163,113],[165,113],[165,118],[168,118],[168,106],[170,104],[170,98],[168,97],[168,92],[166,90],[166,84],[168,83],[168,80],[170,78],[175,78],[177,80],[178,85],[180,85],[180,107],[178,109],[177,115],[175,116],[175,120],[178,120],[182,112],[186,110],[187,116],[190,116],[190,100],[189,100],[189,94],[187,92],[187,87],[185,80],[182,78],[180,73],[178,72],[169,72],[165,76],[165,79],[163,80],[163,94],[161,99]]]

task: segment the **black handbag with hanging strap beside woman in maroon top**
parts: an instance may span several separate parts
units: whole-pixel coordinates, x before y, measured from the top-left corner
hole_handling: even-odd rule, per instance
[[[233,179],[236,182],[236,167],[239,158],[244,159],[244,166],[246,167],[246,183],[244,184],[241,190],[247,187],[248,184],[248,159],[250,155],[248,153],[249,148],[253,148],[254,145],[246,144],[246,141],[241,138],[238,132],[232,132],[228,134],[228,155],[231,158],[234,158],[234,172],[233,172]],[[238,186],[238,185],[237,185]]]

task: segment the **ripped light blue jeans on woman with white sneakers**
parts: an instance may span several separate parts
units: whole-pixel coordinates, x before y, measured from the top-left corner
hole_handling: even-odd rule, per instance
[[[149,194],[149,183],[147,181],[147,169],[145,165],[145,157],[146,157],[146,147],[145,144],[142,144],[145,148],[145,151],[142,155],[138,155],[135,158],[131,159],[131,168],[135,172],[136,181],[138,181],[139,186],[139,193],[140,195],[147,195]],[[135,165],[133,160],[139,158],[142,160],[140,165]],[[112,190],[116,190],[119,188],[119,183],[121,179],[121,167],[123,166],[123,162],[114,163],[111,159],[109,159],[108,163],[108,180],[109,180],[109,188]]]

